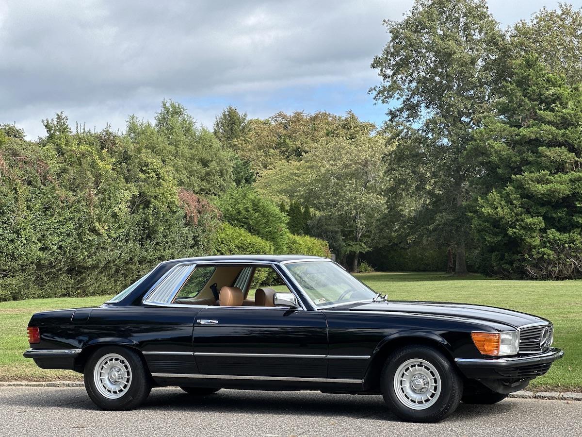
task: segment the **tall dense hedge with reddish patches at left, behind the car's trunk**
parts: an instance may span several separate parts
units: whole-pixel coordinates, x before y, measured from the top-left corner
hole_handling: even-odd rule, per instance
[[[62,116],[47,130],[0,129],[0,301],[113,295],[162,260],[212,252],[218,212],[150,151],[73,134]]]

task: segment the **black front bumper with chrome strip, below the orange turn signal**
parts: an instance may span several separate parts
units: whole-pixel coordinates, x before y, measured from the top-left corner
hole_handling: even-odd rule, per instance
[[[510,358],[455,358],[460,371],[469,379],[533,379],[544,375],[559,360],[564,351],[555,347],[525,357]]]

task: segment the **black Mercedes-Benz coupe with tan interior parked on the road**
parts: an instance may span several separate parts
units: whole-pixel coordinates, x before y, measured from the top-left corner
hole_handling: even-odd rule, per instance
[[[436,422],[523,389],[563,355],[540,317],[389,301],[329,259],[293,255],[162,262],[97,308],[34,314],[28,332],[24,356],[82,372],[105,410],[158,386],[321,390],[382,394],[400,418]]]

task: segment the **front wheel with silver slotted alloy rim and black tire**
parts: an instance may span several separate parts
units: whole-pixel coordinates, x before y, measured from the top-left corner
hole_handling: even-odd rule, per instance
[[[439,351],[407,346],[386,360],[381,388],[386,404],[403,420],[438,422],[459,406],[463,382]]]

